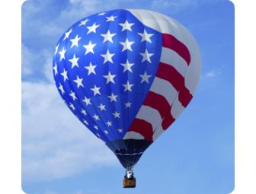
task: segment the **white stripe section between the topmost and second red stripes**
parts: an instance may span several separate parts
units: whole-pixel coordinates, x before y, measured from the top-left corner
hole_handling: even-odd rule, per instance
[[[173,66],[183,77],[187,71],[187,62],[172,49],[162,47],[160,62]]]

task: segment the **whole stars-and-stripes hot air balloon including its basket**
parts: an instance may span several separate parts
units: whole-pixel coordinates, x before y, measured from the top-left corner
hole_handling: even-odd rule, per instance
[[[72,113],[126,169],[123,187],[135,187],[134,165],[194,97],[200,50],[171,17],[105,11],[63,33],[53,76]]]

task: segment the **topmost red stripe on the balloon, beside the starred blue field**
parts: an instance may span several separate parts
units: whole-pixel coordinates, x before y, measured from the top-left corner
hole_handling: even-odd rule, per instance
[[[187,65],[190,65],[190,52],[187,49],[187,46],[185,46],[184,43],[181,43],[180,40],[176,39],[171,34],[163,33],[162,46],[177,52],[178,55],[187,62]]]

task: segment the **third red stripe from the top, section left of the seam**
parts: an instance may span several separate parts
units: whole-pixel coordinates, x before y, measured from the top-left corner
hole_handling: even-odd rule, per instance
[[[163,97],[162,95],[156,94],[155,92],[152,92],[152,91],[149,91],[143,104],[158,110],[158,113],[160,113],[162,118],[164,118],[167,110],[170,110],[170,113],[171,113],[171,106],[168,103],[168,101],[165,99],[165,97]]]

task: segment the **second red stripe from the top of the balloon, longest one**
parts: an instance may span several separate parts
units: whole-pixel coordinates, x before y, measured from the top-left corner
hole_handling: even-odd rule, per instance
[[[192,99],[192,94],[185,87],[184,77],[171,65],[160,62],[158,65],[158,72],[156,72],[158,78],[162,78],[166,81],[169,81],[176,91],[178,91],[178,98],[181,104],[184,107],[187,107],[187,104]]]

